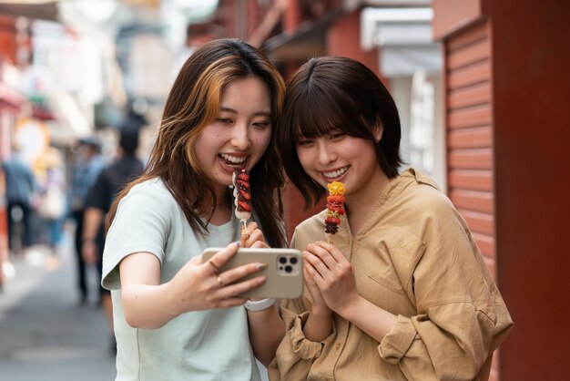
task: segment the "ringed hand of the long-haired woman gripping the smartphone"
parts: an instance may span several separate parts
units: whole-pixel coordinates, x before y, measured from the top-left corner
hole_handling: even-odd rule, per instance
[[[238,252],[239,243],[232,242],[202,263],[201,257],[194,257],[168,283],[168,290],[179,305],[179,313],[188,311],[227,308],[244,304],[247,299],[239,297],[265,283],[265,276],[234,283],[251,273],[264,269],[265,263],[248,263],[223,273],[218,269]],[[234,284],[232,284],[234,283]]]

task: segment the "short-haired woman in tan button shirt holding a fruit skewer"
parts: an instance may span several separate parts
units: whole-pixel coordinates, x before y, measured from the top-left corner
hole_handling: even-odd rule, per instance
[[[270,379],[487,380],[513,321],[452,202],[399,172],[400,119],[380,79],[350,58],[311,58],[275,135],[306,206],[331,196],[295,229],[306,287],[281,303]]]

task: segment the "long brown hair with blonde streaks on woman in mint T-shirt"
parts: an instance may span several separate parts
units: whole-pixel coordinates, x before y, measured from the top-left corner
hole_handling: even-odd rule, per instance
[[[280,73],[258,49],[225,38],[200,46],[188,57],[168,94],[148,166],[118,194],[108,213],[107,230],[119,201],[133,186],[160,178],[184,211],[192,230],[208,234],[208,223],[200,219],[200,211],[209,211],[217,201],[211,180],[198,166],[194,143],[198,134],[218,117],[224,88],[235,79],[251,76],[260,77],[270,89],[274,128],[280,117],[285,85]],[[280,229],[282,210],[277,205],[284,180],[273,136],[250,175],[251,203],[259,217],[258,223],[271,246],[284,247],[285,237]]]

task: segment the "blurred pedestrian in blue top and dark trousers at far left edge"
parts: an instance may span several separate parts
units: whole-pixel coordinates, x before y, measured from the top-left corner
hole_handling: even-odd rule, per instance
[[[22,157],[20,149],[14,145],[12,155],[2,163],[5,175],[6,212],[8,217],[8,247],[15,252],[17,239],[16,225],[21,219],[19,241],[21,249],[29,248],[32,241],[32,207],[36,200],[37,184],[34,173]],[[17,218],[18,215],[20,218]]]

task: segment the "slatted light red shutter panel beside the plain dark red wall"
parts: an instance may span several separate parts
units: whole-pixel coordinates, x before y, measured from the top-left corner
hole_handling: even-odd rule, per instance
[[[494,273],[494,169],[490,29],[445,44],[448,191]]]

